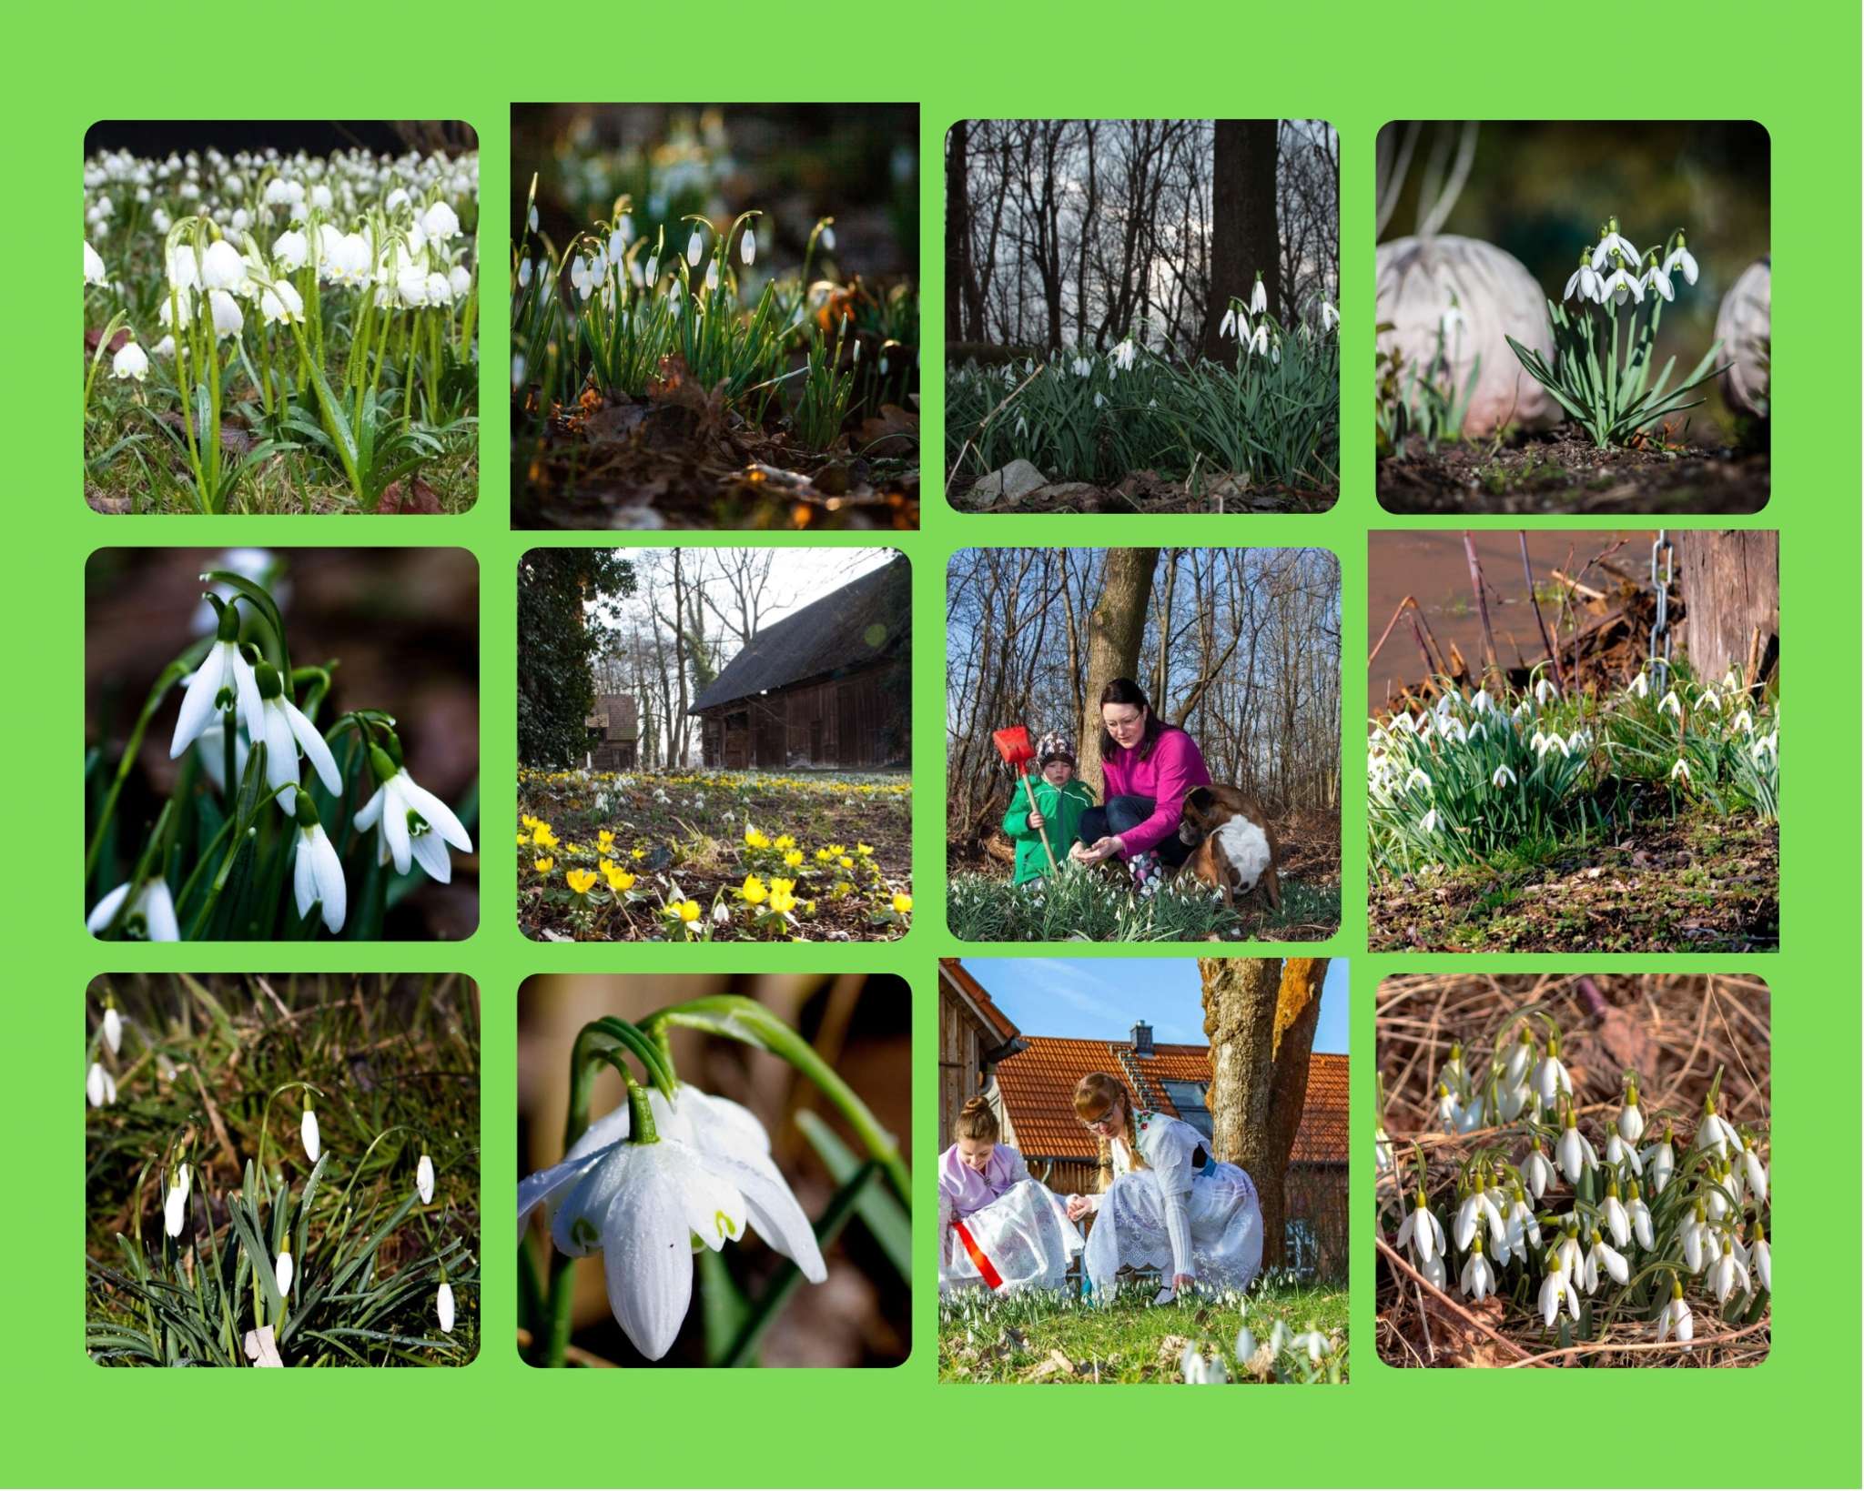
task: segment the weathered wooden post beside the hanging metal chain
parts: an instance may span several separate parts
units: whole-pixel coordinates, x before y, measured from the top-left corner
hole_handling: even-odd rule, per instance
[[[1685,606],[1679,650],[1698,678],[1719,680],[1732,665],[1752,688],[1775,669],[1780,656],[1778,533],[1678,533],[1676,589]]]

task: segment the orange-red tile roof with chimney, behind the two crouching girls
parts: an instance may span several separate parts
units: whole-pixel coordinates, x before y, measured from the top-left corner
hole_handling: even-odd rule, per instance
[[[1068,1040],[1023,1036],[1029,1049],[997,1062],[997,1087],[1010,1115],[1016,1148],[1036,1159],[1096,1157],[1094,1135],[1074,1116],[1074,1085],[1089,1072],[1111,1072],[1130,1087],[1144,1087],[1141,1101],[1178,1116],[1161,1081],[1210,1083],[1210,1047],[1156,1044],[1150,1057],[1124,1040]],[[1133,1072],[1143,1079],[1133,1083]],[[1348,1059],[1314,1053],[1307,1068],[1307,1105],[1295,1131],[1290,1163],[1344,1165],[1350,1144]]]

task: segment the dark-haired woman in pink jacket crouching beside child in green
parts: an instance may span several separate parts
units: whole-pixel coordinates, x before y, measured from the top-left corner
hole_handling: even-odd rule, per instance
[[[1115,854],[1133,872],[1141,895],[1163,883],[1191,854],[1178,837],[1186,794],[1210,787],[1197,742],[1167,725],[1131,678],[1115,678],[1100,691],[1100,764],[1105,803],[1081,814],[1081,842],[1070,854],[1098,865]]]

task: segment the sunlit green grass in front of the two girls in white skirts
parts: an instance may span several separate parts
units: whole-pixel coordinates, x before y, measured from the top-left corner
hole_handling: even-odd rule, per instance
[[[1072,1293],[939,1299],[941,1383],[1182,1383],[1186,1347],[1221,1355],[1232,1381],[1348,1381],[1348,1308],[1340,1284],[1258,1280],[1245,1295],[1176,1299],[1154,1306],[1158,1280],[1122,1284],[1103,1306]],[[1310,1325],[1335,1349],[1314,1366],[1305,1353],[1269,1353],[1281,1321],[1290,1334]],[[1247,1323],[1258,1342],[1249,1364],[1236,1362]]]

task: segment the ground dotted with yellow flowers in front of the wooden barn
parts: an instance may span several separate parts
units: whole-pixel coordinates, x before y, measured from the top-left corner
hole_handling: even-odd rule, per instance
[[[518,773],[518,921],[544,941],[885,941],[911,924],[911,783]]]

